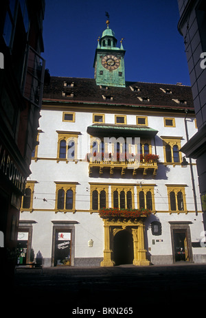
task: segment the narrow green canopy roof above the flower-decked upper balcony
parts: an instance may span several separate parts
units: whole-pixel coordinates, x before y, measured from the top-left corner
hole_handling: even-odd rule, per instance
[[[124,124],[93,124],[87,127],[87,133],[93,136],[130,136],[130,137],[155,137],[158,130],[148,126]]]

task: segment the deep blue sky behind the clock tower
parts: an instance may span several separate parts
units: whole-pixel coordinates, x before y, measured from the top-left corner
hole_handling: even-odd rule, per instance
[[[126,80],[190,85],[177,0],[45,0],[43,39],[51,76],[93,78],[107,11],[117,46],[126,50]]]

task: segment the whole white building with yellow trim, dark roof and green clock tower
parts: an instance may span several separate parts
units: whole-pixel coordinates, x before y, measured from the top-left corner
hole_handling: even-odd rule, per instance
[[[45,85],[21,264],[32,249],[43,266],[205,262],[196,162],[179,152],[197,131],[191,88],[125,82],[123,50],[107,21],[95,78]]]

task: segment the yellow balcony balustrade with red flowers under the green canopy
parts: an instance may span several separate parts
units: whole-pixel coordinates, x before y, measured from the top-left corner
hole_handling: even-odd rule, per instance
[[[107,155],[107,156],[106,156]],[[152,172],[152,176],[157,174],[157,161],[159,156],[157,155],[139,155],[139,159],[136,156],[131,155],[130,159],[121,158],[116,156],[115,160],[110,154],[95,154],[88,159],[89,161],[89,177],[93,177],[93,172],[98,170],[100,175],[104,174],[105,170],[109,170],[112,176],[115,170],[120,170],[121,175],[124,176],[126,170],[132,170],[133,176],[137,174],[137,170],[142,171],[143,176],[146,176],[148,172]],[[134,157],[134,158],[133,158]]]

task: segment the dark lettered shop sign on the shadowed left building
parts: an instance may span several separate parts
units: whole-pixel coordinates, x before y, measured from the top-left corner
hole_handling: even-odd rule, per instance
[[[14,187],[23,194],[25,188],[25,177],[16,167],[10,155],[0,145],[0,171],[14,185]]]

